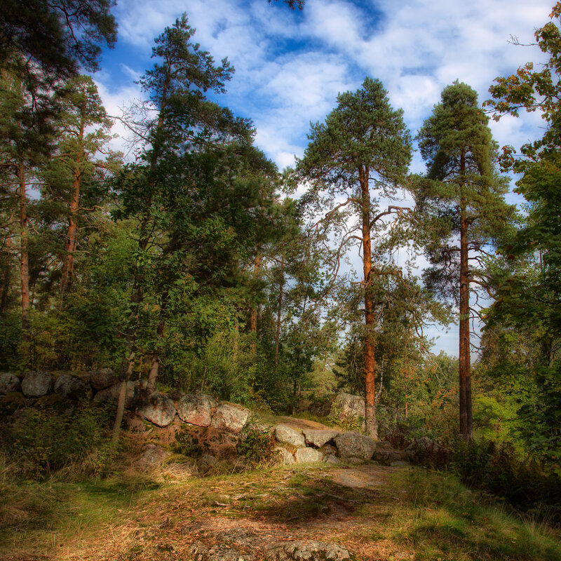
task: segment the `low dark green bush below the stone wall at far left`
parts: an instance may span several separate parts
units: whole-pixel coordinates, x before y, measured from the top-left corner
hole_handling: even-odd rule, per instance
[[[1,450],[17,459],[22,478],[44,479],[62,468],[72,476],[105,475],[116,452],[111,411],[91,404],[28,408],[4,424]]]

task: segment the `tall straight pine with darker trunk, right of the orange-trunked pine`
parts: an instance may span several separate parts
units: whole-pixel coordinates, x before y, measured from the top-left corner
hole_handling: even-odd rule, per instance
[[[470,291],[473,285],[488,288],[482,257],[513,217],[487,122],[477,93],[456,81],[442,91],[417,137],[427,173],[418,178],[415,196],[432,233],[424,278],[428,288],[459,306],[459,427],[466,439],[473,431],[470,320],[478,313]]]

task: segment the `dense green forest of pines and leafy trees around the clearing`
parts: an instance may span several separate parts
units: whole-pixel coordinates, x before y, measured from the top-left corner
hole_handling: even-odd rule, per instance
[[[430,442],[417,463],[431,485],[445,473],[551,543],[466,553],[426,541],[407,558],[561,559],[561,2],[535,31],[545,62],[521,59],[487,99],[460,76],[412,131],[367,76],[311,123],[284,170],[222,104],[234,67],[196,42],[188,14],[154,39],[143,99],[110,116],[95,72],[117,41],[112,8],[5,0],[0,15],[0,489],[25,502],[47,484],[115,478],[133,447],[134,386],[137,413],[156,395],[176,406],[203,395],[360,433],[378,450]],[[525,112],[543,135],[499,146],[492,119]],[[127,154],[110,148],[117,121]],[[414,149],[424,173],[410,171]],[[435,325],[459,325],[453,355],[433,351]],[[61,372],[111,372],[114,401],[31,403],[15,388],[37,372],[52,396]],[[347,423],[334,419],[346,394],[364,403]],[[243,431],[238,452],[260,473],[270,431]],[[195,457],[177,434],[173,452]],[[27,522],[3,501],[5,537],[12,517],[16,532]],[[72,557],[4,547],[6,559]],[[172,550],[158,549],[179,559]],[[103,558],[144,559],[126,555]],[[205,555],[192,558],[230,559]],[[405,558],[349,555],[325,558]]]

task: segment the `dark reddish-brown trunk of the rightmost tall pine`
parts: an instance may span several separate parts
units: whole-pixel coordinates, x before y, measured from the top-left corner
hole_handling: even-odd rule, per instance
[[[460,218],[460,318],[459,318],[459,398],[460,434],[464,440],[472,438],[471,414],[471,358],[469,330],[469,271],[468,224],[465,202],[461,202]]]

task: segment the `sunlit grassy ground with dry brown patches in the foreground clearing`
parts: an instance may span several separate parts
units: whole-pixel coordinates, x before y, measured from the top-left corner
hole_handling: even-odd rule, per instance
[[[0,473],[0,558],[189,561],[194,541],[243,528],[339,543],[357,561],[561,561],[558,530],[452,475],[349,469],[372,470],[383,485],[349,487],[341,478],[350,471],[324,464],[158,484],[121,476],[16,485]]]

